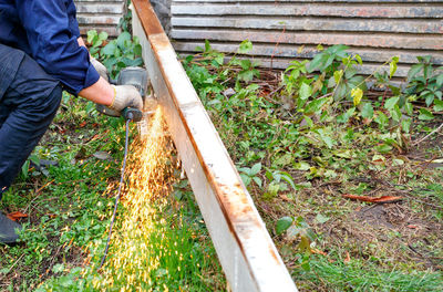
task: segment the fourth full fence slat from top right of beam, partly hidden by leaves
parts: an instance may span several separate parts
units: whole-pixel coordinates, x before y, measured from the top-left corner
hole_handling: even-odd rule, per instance
[[[178,52],[196,52],[196,48],[204,48],[205,44],[203,42],[174,42],[174,48]],[[210,43],[210,46],[214,50],[224,53],[236,52],[238,50],[238,43]],[[419,52],[419,51],[400,51],[400,50],[369,50],[369,49],[359,49],[359,48],[350,48],[349,52],[352,54],[359,54],[363,62],[372,62],[372,63],[383,63],[390,60],[392,56],[398,55],[400,59],[400,63],[403,64],[413,64],[416,63],[416,56],[420,55],[431,55],[432,62],[434,64],[443,65],[443,52]],[[312,59],[318,51],[316,46],[303,46],[303,48],[295,48],[292,45],[275,45],[272,43],[269,44],[254,44],[253,50],[248,53],[250,56],[276,56],[276,58],[287,58],[287,59]]]

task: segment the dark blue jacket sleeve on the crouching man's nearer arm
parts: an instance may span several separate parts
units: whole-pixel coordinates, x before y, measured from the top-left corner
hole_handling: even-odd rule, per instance
[[[100,75],[90,54],[80,46],[75,7],[70,0],[17,0],[20,21],[27,31],[32,58],[48,74],[75,95],[94,84]],[[73,28],[75,27],[75,28]]]

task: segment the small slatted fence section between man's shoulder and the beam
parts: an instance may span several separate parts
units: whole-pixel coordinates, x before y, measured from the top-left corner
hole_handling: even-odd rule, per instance
[[[117,24],[126,12],[126,0],[74,0],[80,31],[105,31],[117,36]]]

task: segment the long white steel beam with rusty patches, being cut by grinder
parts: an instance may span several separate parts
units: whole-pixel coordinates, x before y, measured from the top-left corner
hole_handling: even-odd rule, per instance
[[[222,139],[148,1],[133,32],[233,291],[297,291]]]

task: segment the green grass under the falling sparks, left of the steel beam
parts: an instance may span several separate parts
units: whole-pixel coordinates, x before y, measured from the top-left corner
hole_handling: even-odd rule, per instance
[[[40,159],[58,160],[59,166],[30,169],[3,196],[4,212],[21,211],[28,218],[21,220],[21,243],[0,246],[0,290],[101,291],[111,283],[119,291],[137,286],[223,290],[225,280],[214,248],[187,180],[178,179],[174,148],[163,129],[171,155],[162,161],[169,168],[158,167],[164,169],[157,174],[165,179],[157,185],[162,196],[148,197],[135,189],[137,179],[126,180],[110,255],[103,270],[97,270],[120,178],[124,125],[97,115],[93,107],[64,95],[54,123],[34,152]],[[133,125],[131,139],[136,139],[135,133]],[[143,148],[137,143],[132,145],[132,155]]]

